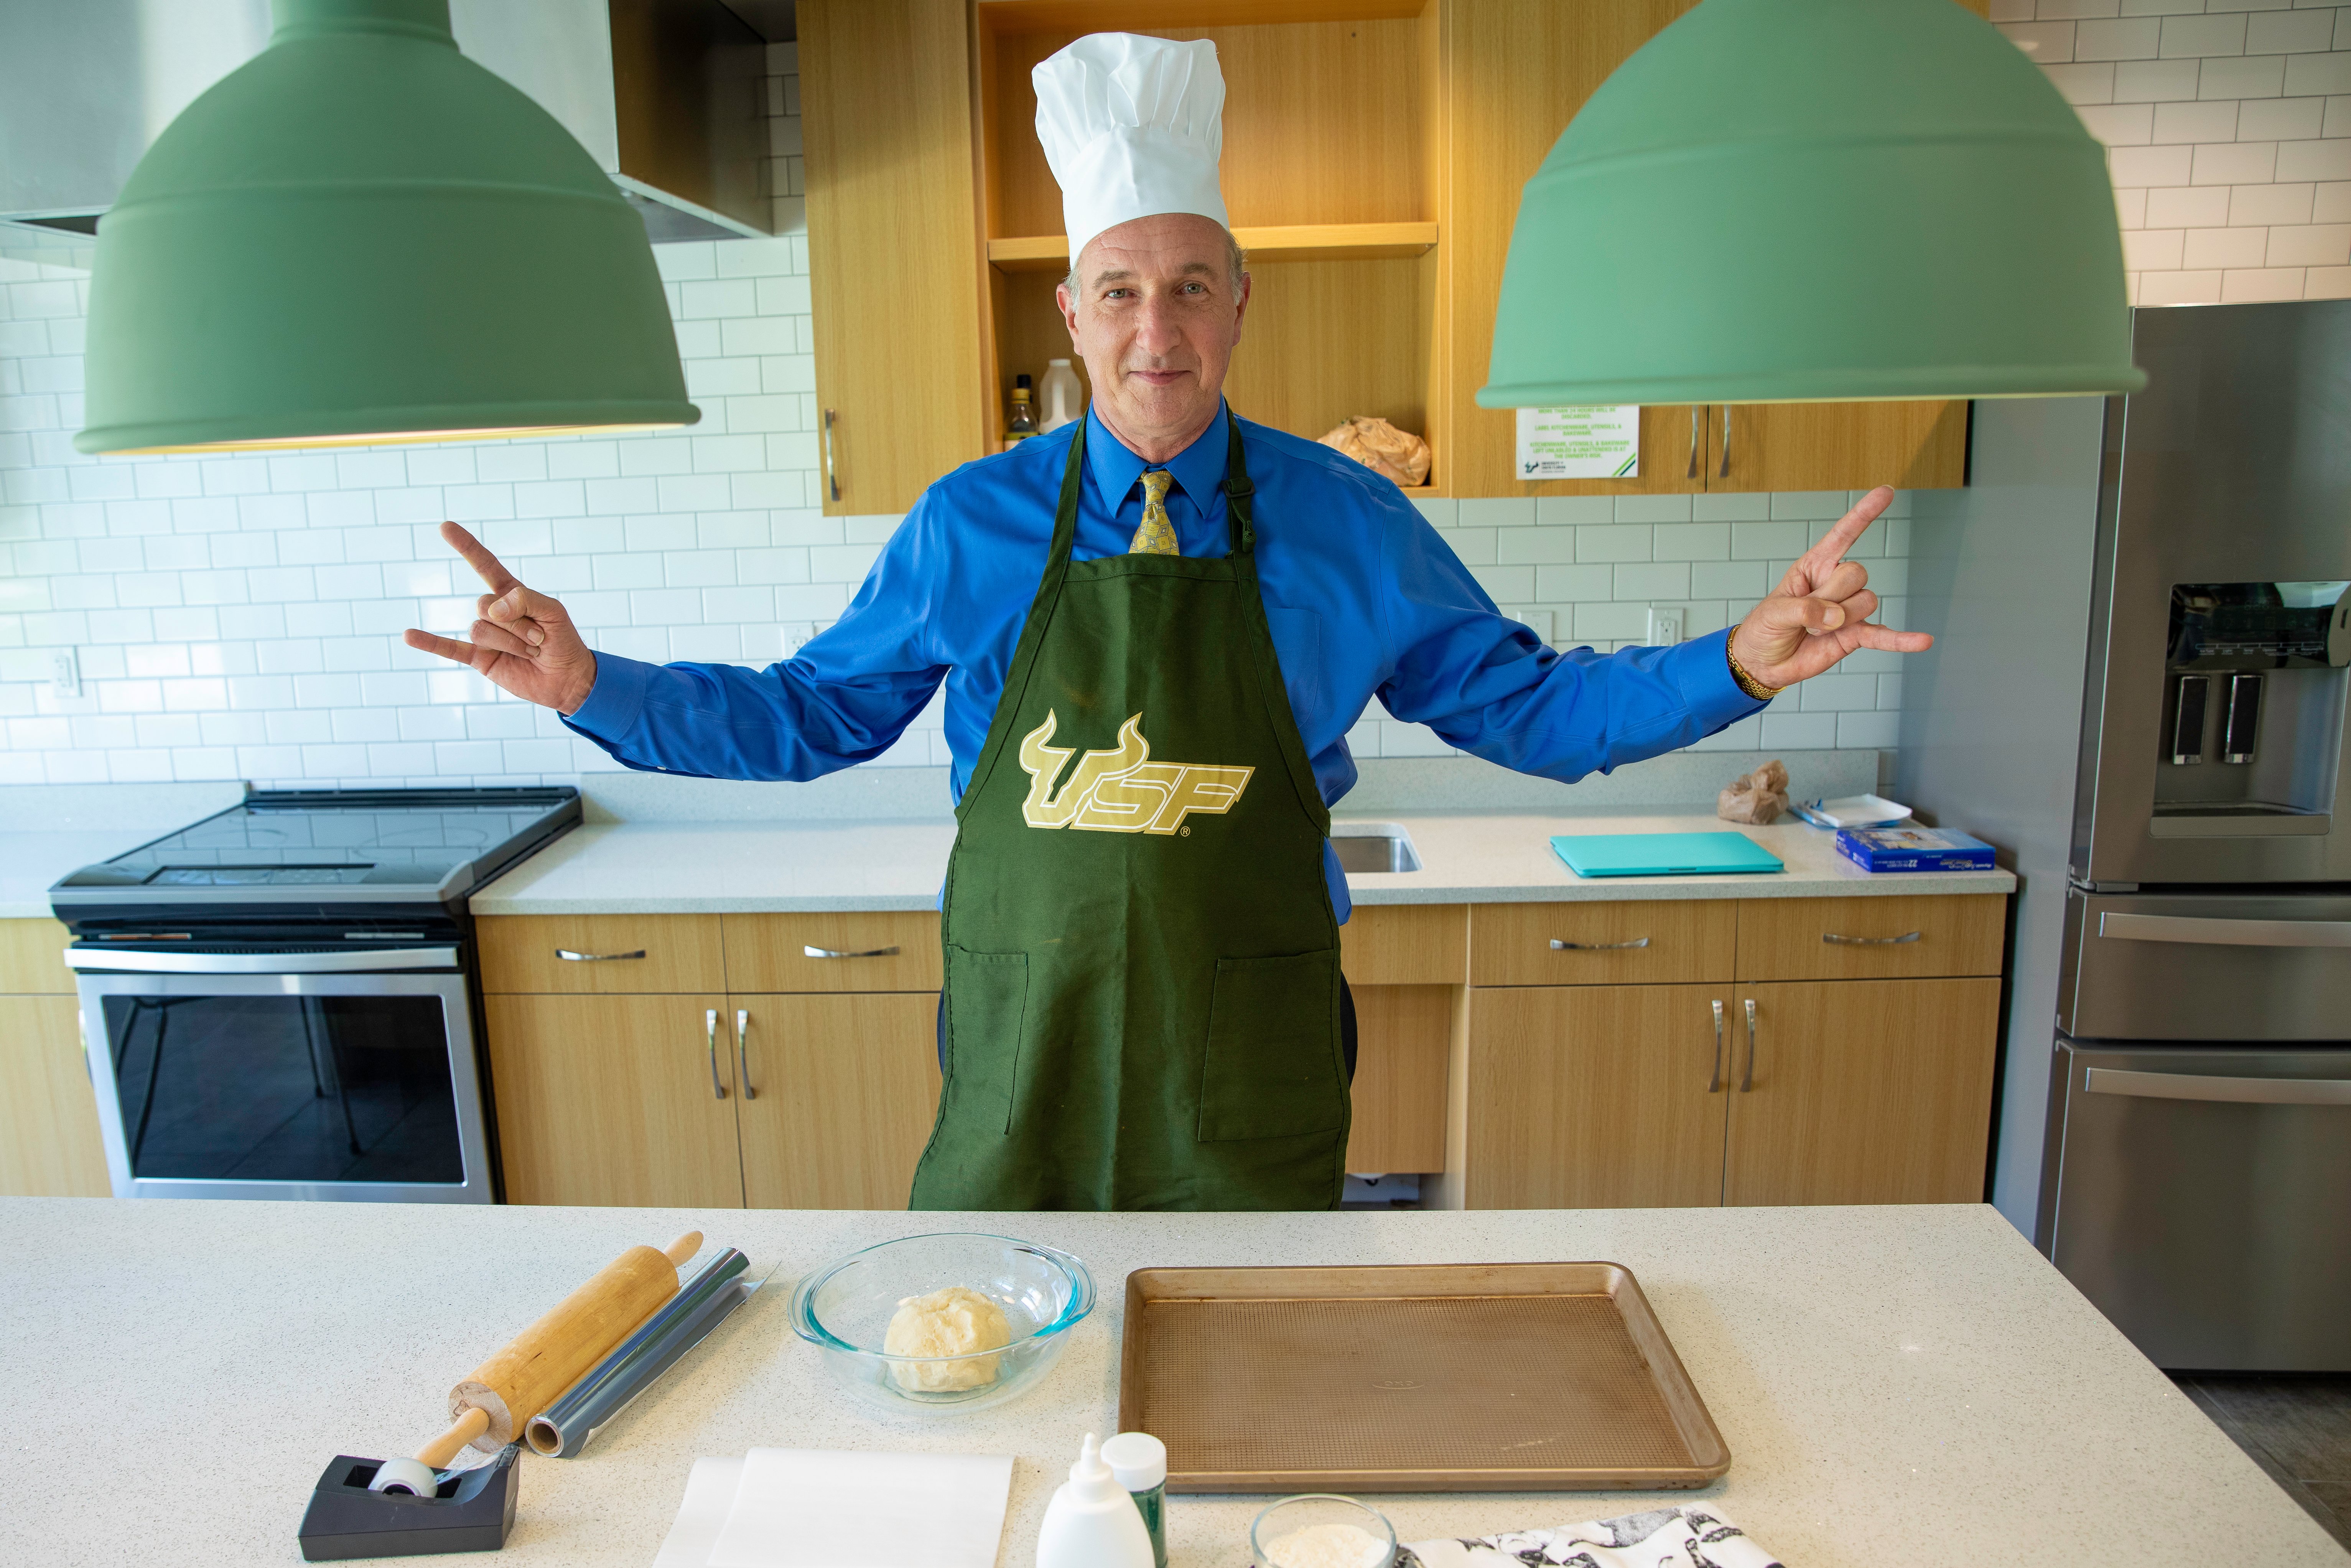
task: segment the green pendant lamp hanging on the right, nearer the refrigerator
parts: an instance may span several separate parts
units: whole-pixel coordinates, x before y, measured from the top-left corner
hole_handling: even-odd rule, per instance
[[[1526,183],[1488,409],[2135,393],[2114,190],[1954,0],[1704,0]]]

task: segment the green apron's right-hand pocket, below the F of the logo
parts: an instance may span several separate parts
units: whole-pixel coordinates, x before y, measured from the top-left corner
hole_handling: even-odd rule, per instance
[[[1338,950],[1218,959],[1199,1077],[1199,1140],[1302,1138],[1342,1126]]]

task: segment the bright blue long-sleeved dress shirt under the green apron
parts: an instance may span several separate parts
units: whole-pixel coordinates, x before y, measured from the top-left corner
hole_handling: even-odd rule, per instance
[[[1091,411],[1074,559],[1124,555],[1143,470]],[[766,670],[597,654],[571,729],[632,769],[816,778],[879,757],[940,682],[955,799],[1044,574],[1074,425],[957,468],[926,489],[837,623]],[[1502,616],[1394,484],[1317,442],[1241,421],[1255,484],[1258,583],[1281,684],[1324,802],[1354,788],[1347,731],[1373,696],[1396,719],[1521,773],[1573,783],[1690,745],[1761,703],[1728,632],[1672,649],[1568,654]],[[1166,508],[1185,555],[1223,555],[1225,421],[1176,454]],[[1331,905],[1347,879],[1324,853]]]

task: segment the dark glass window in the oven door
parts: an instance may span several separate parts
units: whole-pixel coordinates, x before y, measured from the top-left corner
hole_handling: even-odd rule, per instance
[[[134,1178],[463,1182],[440,997],[106,997]]]

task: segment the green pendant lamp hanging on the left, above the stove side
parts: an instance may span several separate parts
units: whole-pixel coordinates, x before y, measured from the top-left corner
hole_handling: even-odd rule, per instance
[[[82,451],[691,425],[644,223],[449,0],[273,0],[99,221]]]

